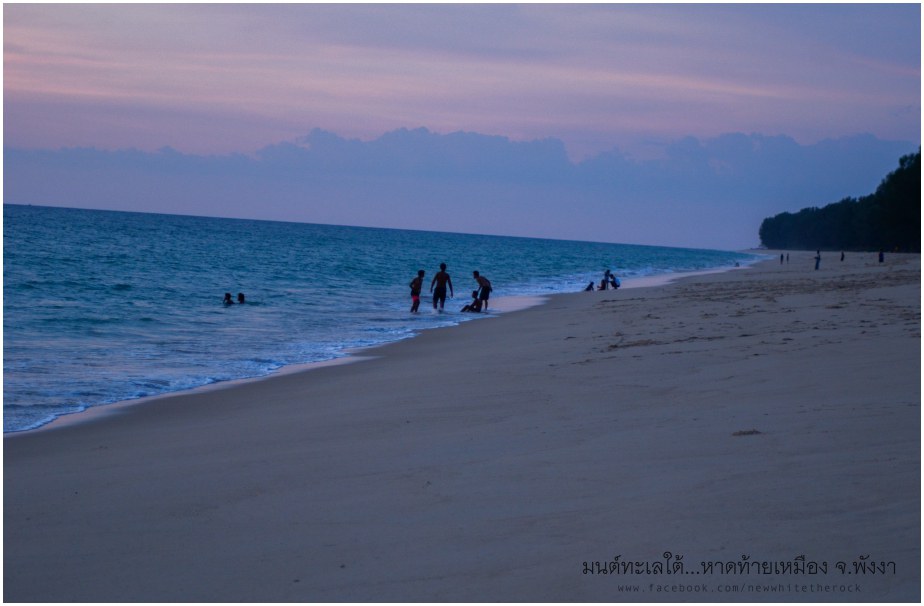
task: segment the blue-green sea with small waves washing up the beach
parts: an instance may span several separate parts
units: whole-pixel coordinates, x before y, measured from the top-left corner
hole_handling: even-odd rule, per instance
[[[3,431],[337,360],[491,303],[746,265],[742,252],[5,204]],[[430,280],[446,263],[443,312]],[[426,272],[420,312],[410,288]],[[231,293],[244,304],[225,305]],[[527,299],[523,299],[523,298]],[[540,298],[540,299],[536,299]],[[511,307],[507,307],[511,308]]]

